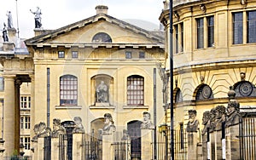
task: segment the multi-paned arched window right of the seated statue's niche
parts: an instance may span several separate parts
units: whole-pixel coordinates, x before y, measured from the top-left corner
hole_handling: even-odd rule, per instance
[[[144,78],[141,76],[127,77],[127,105],[144,105]]]

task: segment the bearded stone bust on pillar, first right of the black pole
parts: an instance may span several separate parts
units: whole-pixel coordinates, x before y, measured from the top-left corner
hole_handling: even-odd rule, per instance
[[[195,119],[196,117],[196,111],[195,110],[189,110],[189,122],[187,123],[187,132],[197,132],[198,130],[198,120]]]

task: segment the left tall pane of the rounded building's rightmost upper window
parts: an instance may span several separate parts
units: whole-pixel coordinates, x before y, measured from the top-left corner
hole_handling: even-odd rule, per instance
[[[233,43],[242,43],[242,13],[233,14]]]

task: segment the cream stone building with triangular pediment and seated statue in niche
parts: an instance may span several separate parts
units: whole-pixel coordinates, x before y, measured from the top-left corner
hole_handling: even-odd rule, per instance
[[[20,117],[26,111],[18,108],[26,97],[33,142],[41,135],[61,133],[60,123],[65,127],[66,122],[75,124],[76,133],[98,138],[108,113],[116,132],[126,129],[130,134],[131,157],[140,158],[143,112],[153,121],[155,106],[154,125],[164,121],[164,37],[113,18],[107,6],[97,6],[96,15],[68,26],[34,31],[35,37],[25,41],[28,53],[9,51],[11,43],[3,43],[1,51],[4,155],[19,149]],[[19,99],[21,83],[28,83],[21,90],[31,92],[26,96],[24,91]],[[41,128],[44,132],[38,131]]]

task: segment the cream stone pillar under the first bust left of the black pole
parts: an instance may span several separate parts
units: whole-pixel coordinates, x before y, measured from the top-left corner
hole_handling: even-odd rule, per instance
[[[142,160],[152,159],[153,130],[142,129]]]

